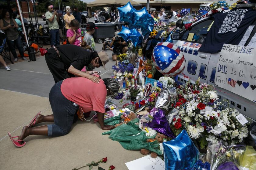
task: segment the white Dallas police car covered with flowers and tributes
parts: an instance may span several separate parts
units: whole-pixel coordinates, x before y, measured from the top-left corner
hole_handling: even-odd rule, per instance
[[[220,53],[203,53],[198,51],[204,43],[208,31],[211,29],[213,21],[214,20],[211,19],[211,17],[205,17],[191,25],[190,29],[180,32],[180,35],[177,36],[176,34],[176,37],[172,36],[174,37],[173,43],[180,48],[186,59],[183,74],[178,75],[178,78],[176,79],[178,83],[184,84],[187,82],[188,78],[184,77],[185,74],[190,77],[191,83],[195,83],[198,77],[200,77],[201,83],[214,85]],[[256,20],[254,20],[252,25],[256,25]],[[244,46],[247,46],[251,41],[254,42],[253,47],[256,47],[256,38],[254,37],[256,35],[255,32],[256,26],[251,31],[249,37],[244,37],[247,38]],[[190,35],[196,35],[198,36],[198,39],[195,41]],[[229,100],[231,107],[235,107],[240,113],[256,121],[256,103],[223,88],[216,87],[216,89],[219,93],[219,100]]]

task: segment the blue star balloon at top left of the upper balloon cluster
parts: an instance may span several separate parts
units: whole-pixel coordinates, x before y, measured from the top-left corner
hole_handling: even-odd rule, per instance
[[[120,22],[128,22],[129,24],[133,24],[134,17],[133,17],[133,11],[137,11],[133,8],[130,2],[128,2],[126,5],[117,8],[119,11],[119,17]]]

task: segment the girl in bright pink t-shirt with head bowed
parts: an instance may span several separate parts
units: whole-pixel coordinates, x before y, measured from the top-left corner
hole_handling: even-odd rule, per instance
[[[76,19],[70,21],[71,29],[67,31],[67,39],[70,44],[81,46],[82,43],[82,35],[81,29],[79,28],[79,22]]]

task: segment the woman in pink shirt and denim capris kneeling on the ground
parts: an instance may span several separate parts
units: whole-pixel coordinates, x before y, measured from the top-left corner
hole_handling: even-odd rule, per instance
[[[119,90],[119,83],[114,78],[100,80],[93,83],[84,77],[71,77],[56,83],[49,94],[49,100],[53,114],[43,116],[38,113],[30,122],[29,126],[24,126],[17,140],[13,139],[9,132],[13,144],[23,147],[23,141],[29,135],[62,136],[69,133],[73,124],[74,115],[77,110],[88,112],[94,110],[98,113],[98,120],[103,130],[111,130],[114,126],[104,124],[105,100],[107,96],[116,97]],[[54,122],[39,127],[33,127],[41,122]]]

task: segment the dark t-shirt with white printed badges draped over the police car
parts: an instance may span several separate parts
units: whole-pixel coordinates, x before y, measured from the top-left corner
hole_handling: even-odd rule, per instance
[[[227,11],[227,10],[226,10]],[[238,45],[249,25],[256,18],[252,9],[232,9],[214,14],[214,24],[198,51],[218,53],[224,43]]]

